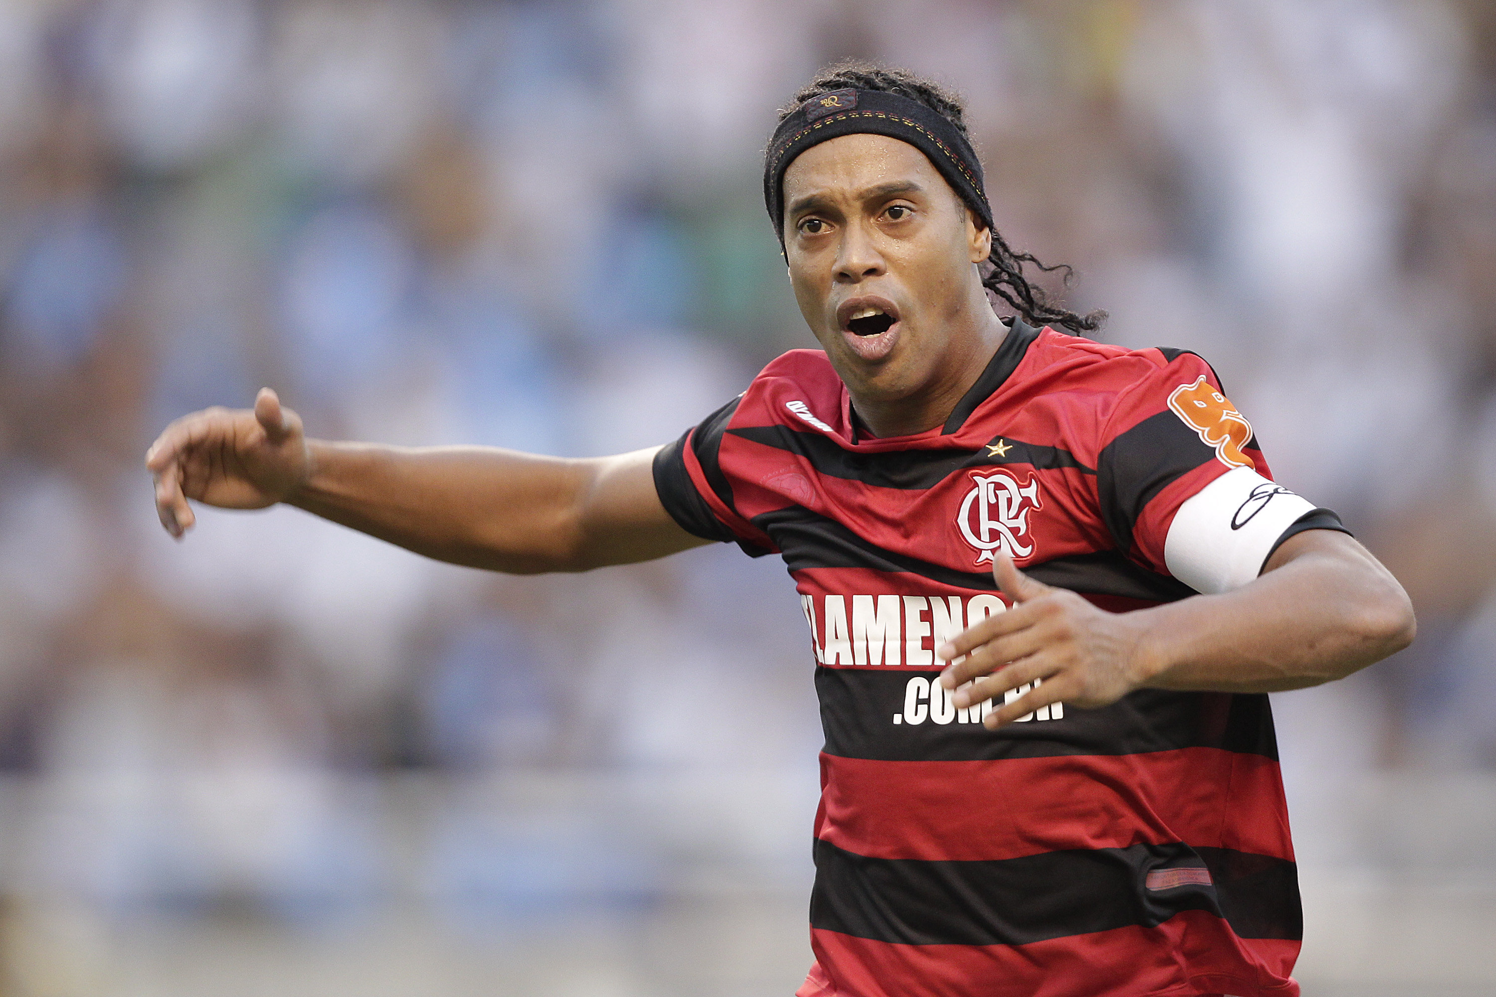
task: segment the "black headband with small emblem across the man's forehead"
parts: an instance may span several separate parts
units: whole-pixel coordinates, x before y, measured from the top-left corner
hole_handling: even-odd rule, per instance
[[[956,126],[917,100],[881,90],[833,90],[811,97],[779,123],[763,154],[763,200],[784,248],[784,170],[794,157],[844,135],[887,135],[908,142],[935,164],[987,229],[992,208],[981,185],[981,163]]]

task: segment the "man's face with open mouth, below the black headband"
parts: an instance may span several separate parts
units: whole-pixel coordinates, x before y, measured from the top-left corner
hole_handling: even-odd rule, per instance
[[[990,235],[923,152],[821,142],[790,163],[784,203],[794,297],[854,401],[896,402],[969,360],[996,320],[975,269]]]

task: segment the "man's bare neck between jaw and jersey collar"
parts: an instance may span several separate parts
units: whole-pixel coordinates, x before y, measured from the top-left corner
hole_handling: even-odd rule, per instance
[[[980,306],[965,309],[972,321],[950,338],[941,363],[919,390],[902,398],[869,398],[848,386],[856,417],[874,436],[913,436],[944,426],[956,405],[987,369],[1008,327],[1002,324],[984,291]]]

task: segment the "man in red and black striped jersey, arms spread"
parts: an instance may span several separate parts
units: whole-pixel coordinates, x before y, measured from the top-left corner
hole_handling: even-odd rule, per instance
[[[509,572],[778,552],[826,726],[802,997],[1297,994],[1263,694],[1406,646],[1397,581],[1272,483],[1200,357],[1035,327],[1095,323],[1023,278],[953,96],[823,73],[764,197],[824,351],[676,442],[322,442],[266,389],[151,447],[163,525],[283,501]]]

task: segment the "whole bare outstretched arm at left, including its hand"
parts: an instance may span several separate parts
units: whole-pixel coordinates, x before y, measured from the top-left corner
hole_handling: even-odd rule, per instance
[[[708,541],[655,493],[655,450],[567,460],[495,447],[383,447],[307,439],[262,389],[254,410],[178,419],[145,456],[162,525],[183,537],[187,499],[287,502],[438,561],[515,574],[649,561]]]

